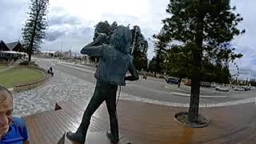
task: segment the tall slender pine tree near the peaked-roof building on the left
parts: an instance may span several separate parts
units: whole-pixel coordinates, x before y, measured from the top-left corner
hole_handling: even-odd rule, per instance
[[[29,61],[34,51],[39,50],[42,39],[46,37],[46,13],[48,0],[31,0],[29,18],[22,29],[22,44],[29,54]]]

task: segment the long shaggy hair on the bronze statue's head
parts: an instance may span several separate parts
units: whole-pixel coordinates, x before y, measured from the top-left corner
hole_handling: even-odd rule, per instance
[[[126,26],[118,26],[111,35],[110,45],[114,46],[115,49],[122,51],[125,54],[130,53],[130,42],[132,35],[130,29]]]

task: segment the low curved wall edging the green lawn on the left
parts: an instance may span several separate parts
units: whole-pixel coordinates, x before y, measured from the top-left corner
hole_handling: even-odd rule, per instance
[[[32,70],[39,70],[42,73],[44,73],[44,77],[40,78],[34,82],[26,82],[26,83],[18,83],[18,84],[14,84],[14,91],[22,91],[22,90],[30,90],[30,89],[34,89],[38,86],[41,86],[42,84],[44,84],[49,78],[50,75],[47,74],[46,70],[42,69],[41,67],[36,67],[36,66],[19,66],[19,67],[24,67],[24,68],[30,68]]]

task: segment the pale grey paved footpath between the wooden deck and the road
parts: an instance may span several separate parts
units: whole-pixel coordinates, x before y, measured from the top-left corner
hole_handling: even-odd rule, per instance
[[[47,69],[50,64],[38,61],[39,66]],[[54,65],[54,64],[53,64]],[[73,101],[88,102],[94,93],[95,83],[75,78],[70,74],[54,70],[54,77],[51,77],[44,85],[33,90],[14,92],[14,116],[22,117],[36,114],[45,110],[54,110],[55,102]],[[162,102],[148,98],[139,98],[121,92],[120,99],[137,102],[149,102],[165,106],[188,107],[189,103]],[[200,104],[200,107],[231,106],[241,103],[254,102],[254,98],[238,100],[234,102],[222,102],[217,104]]]

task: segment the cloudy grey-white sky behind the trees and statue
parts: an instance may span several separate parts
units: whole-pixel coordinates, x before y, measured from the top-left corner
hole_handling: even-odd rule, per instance
[[[90,42],[94,26],[107,20],[127,26],[140,26],[146,39],[157,34],[166,18],[169,0],[50,0],[47,38],[42,50],[72,50],[78,52]],[[13,42],[21,37],[30,0],[0,0],[0,39]],[[231,0],[244,21],[239,26],[246,34],[234,39],[234,46],[244,57],[236,60],[241,78],[256,77],[256,17],[255,0]],[[154,56],[154,46],[150,42],[148,57]],[[233,64],[231,73],[236,74]]]

